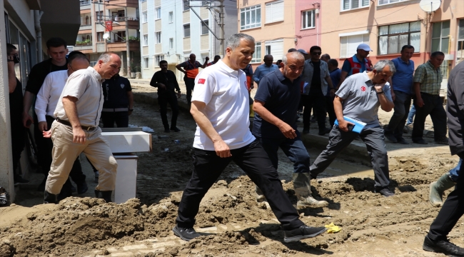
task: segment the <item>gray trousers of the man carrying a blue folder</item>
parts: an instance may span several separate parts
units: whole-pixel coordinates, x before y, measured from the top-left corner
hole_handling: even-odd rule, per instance
[[[311,178],[316,178],[319,173],[325,171],[338,156],[338,153],[346,148],[357,135],[358,133],[355,132],[342,131],[335,125],[328,136],[329,142],[326,150],[319,154],[316,161],[309,168]],[[359,136],[368,148],[375,175],[375,187],[388,186],[390,184],[390,176],[388,175],[388,156],[387,149],[385,148],[383,129],[380,126],[363,129]]]

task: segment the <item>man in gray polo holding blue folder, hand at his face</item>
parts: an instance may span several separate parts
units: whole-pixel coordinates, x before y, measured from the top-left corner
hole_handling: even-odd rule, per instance
[[[394,195],[388,188],[390,184],[388,156],[383,141],[383,129],[377,118],[379,106],[383,111],[391,111],[395,106],[387,82],[393,74],[395,74],[395,65],[389,60],[380,60],[373,67],[373,71],[355,74],[343,82],[333,101],[338,125],[329,135],[326,150],[311,165],[312,178],[325,171],[338,153],[359,135],[367,146],[371,158],[375,174],[375,192],[383,196]],[[352,131],[354,124],[346,121],[345,117],[356,119],[366,125],[360,133],[355,133]]]

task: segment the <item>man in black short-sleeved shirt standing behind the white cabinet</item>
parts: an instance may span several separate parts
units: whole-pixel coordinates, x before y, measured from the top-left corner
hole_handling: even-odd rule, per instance
[[[102,83],[104,104],[101,110],[101,121],[104,128],[127,128],[129,115],[133,111],[133,95],[131,82],[128,79],[114,75]]]

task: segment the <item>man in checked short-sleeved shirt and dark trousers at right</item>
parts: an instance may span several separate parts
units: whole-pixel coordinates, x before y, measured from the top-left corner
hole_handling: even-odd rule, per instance
[[[430,55],[430,60],[418,66],[414,74],[415,92],[415,118],[413,126],[414,143],[427,144],[423,138],[425,118],[430,115],[433,122],[433,137],[435,143],[448,144],[446,138],[446,112],[443,108],[443,100],[440,97],[441,81],[443,80],[440,65],[445,59],[445,54],[435,51]]]

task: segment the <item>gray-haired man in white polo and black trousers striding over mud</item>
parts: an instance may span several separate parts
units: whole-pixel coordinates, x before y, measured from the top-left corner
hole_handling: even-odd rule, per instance
[[[224,59],[195,79],[190,111],[197,124],[193,173],[183,191],[173,232],[185,241],[200,236],[193,225],[201,198],[233,161],[263,191],[282,223],[285,242],[318,236],[326,228],[309,227],[299,219],[268,154],[248,129],[248,90],[241,69],[252,59],[255,40],[246,34],[233,34],[226,46]]]

